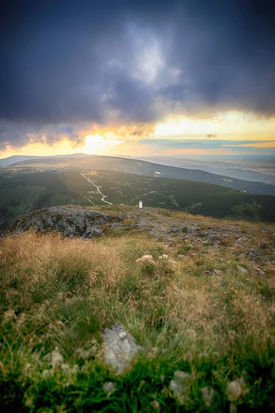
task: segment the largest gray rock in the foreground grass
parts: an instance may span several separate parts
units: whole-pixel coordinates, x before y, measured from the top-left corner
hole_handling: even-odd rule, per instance
[[[118,324],[113,324],[111,328],[105,328],[102,332],[102,339],[104,361],[118,374],[122,374],[131,367],[131,362],[143,350],[135,337]]]

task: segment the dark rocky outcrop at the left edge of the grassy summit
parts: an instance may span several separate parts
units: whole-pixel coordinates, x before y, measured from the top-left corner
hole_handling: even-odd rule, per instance
[[[19,232],[34,228],[40,232],[58,231],[65,237],[86,239],[100,235],[104,227],[115,226],[121,220],[118,214],[85,207],[50,207],[20,218],[12,226],[12,230]]]

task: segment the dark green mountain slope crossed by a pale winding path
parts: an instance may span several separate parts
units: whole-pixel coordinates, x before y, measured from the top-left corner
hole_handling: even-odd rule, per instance
[[[104,196],[102,196],[104,195]],[[275,221],[275,196],[241,193],[204,182],[89,169],[5,169],[0,173],[0,229],[30,211],[62,204],[176,209],[216,218]]]

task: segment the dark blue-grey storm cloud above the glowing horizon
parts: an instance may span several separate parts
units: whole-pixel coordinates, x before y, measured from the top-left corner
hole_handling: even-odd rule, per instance
[[[25,144],[30,129],[61,123],[148,123],[211,108],[275,114],[271,1],[25,0],[1,7],[2,142]],[[60,136],[53,129],[48,139]],[[78,139],[73,129],[68,136]]]

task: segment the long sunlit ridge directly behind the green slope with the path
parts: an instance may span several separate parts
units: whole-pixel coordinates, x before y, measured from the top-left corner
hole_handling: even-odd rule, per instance
[[[217,175],[214,173],[201,171],[201,169],[186,169],[179,167],[170,167],[167,165],[159,165],[144,160],[133,158],[119,158],[114,156],[90,156],[80,158],[37,158],[33,160],[25,160],[17,162],[13,167],[25,167],[40,169],[93,169],[93,170],[109,170],[121,171],[126,173],[135,173],[145,176],[159,176],[162,178],[184,179],[197,182],[206,182],[217,184],[223,187],[237,189],[239,191],[247,191],[249,193],[262,193],[267,195],[275,195],[275,185],[266,184],[264,182],[252,182],[239,180],[230,176]]]

